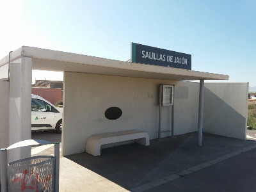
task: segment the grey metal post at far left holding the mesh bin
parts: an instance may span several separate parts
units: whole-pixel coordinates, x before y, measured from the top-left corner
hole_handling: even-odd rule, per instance
[[[7,192],[7,150],[1,148],[1,191]]]

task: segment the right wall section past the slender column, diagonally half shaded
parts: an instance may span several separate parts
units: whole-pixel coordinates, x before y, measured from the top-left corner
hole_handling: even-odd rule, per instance
[[[248,83],[205,83],[203,131],[246,140],[247,108]]]

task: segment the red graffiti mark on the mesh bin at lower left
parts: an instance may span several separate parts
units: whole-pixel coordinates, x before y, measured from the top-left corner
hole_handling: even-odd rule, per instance
[[[52,175],[49,174],[46,179],[41,179],[38,173],[35,173],[35,177],[32,177],[34,172],[31,171],[30,174],[29,170],[24,170],[23,173],[20,174],[19,177],[12,179],[12,182],[21,182],[20,190],[24,191],[25,189],[35,189],[38,192],[38,184],[47,184],[51,180]],[[27,175],[28,174],[28,175]],[[44,187],[45,189],[45,187]]]

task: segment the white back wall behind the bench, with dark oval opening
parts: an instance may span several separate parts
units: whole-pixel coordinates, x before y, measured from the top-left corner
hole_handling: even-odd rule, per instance
[[[138,129],[157,138],[159,84],[175,84],[174,134],[196,131],[198,83],[65,72],[63,156],[84,152],[93,134]],[[112,106],[123,111],[117,120],[104,116]],[[171,130],[171,116],[172,107],[164,106],[162,130]]]

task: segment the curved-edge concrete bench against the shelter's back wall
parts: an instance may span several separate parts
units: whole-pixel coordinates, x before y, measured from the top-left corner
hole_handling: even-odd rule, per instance
[[[92,156],[100,156],[100,147],[104,144],[116,143],[120,141],[135,140],[141,145],[149,145],[149,137],[147,132],[138,130],[109,132],[104,134],[93,134],[86,141],[86,153]]]

